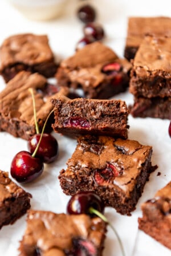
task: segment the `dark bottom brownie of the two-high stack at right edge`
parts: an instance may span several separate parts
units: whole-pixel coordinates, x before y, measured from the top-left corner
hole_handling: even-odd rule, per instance
[[[135,97],[133,106],[129,106],[133,117],[154,117],[171,119],[171,97]]]

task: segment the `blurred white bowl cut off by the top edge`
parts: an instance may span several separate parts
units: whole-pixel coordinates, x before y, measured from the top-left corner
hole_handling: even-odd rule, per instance
[[[23,15],[36,21],[59,17],[68,0],[9,0]]]

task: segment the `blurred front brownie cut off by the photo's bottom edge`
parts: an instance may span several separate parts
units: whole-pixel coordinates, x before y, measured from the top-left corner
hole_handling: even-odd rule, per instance
[[[101,256],[105,232],[98,217],[30,210],[19,256]]]

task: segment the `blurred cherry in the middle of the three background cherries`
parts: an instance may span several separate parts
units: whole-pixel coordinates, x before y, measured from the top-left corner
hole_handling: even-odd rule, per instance
[[[83,32],[86,37],[92,36],[95,40],[101,40],[104,38],[104,29],[97,23],[88,23],[84,26]]]

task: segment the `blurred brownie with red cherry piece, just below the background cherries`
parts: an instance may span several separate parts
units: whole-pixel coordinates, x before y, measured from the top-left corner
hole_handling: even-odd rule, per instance
[[[60,86],[82,88],[91,99],[108,99],[128,87],[131,64],[113,50],[94,42],[60,63],[56,78]]]

